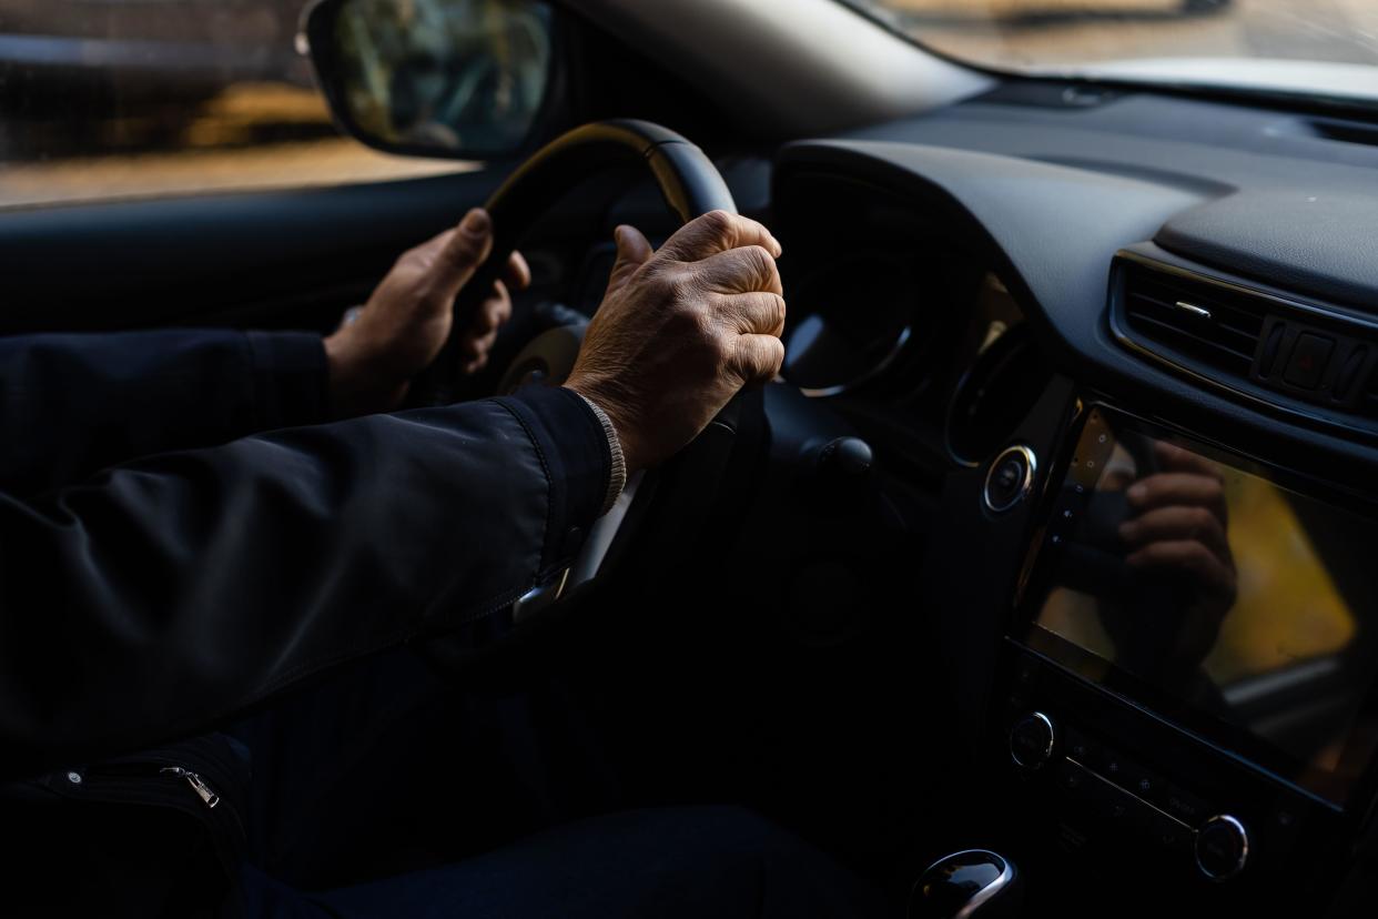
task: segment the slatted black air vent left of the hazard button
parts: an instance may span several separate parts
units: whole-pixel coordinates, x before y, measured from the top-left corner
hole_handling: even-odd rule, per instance
[[[1129,265],[1123,321],[1140,344],[1156,344],[1191,364],[1248,378],[1264,331],[1264,306],[1248,295]]]

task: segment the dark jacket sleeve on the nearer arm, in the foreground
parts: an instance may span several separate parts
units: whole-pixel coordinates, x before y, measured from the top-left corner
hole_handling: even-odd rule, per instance
[[[548,389],[0,495],[0,773],[201,730],[504,609],[577,551],[609,464],[595,415]]]

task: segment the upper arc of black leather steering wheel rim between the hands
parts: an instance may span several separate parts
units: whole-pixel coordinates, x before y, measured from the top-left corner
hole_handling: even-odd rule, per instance
[[[488,198],[493,249],[455,299],[449,340],[413,382],[412,405],[446,405],[460,379],[459,317],[470,316],[499,277],[532,225],[576,185],[610,168],[642,164],[666,205],[688,223],[710,211],[737,212],[722,174],[688,138],[650,121],[617,118],[575,128],[537,150]]]

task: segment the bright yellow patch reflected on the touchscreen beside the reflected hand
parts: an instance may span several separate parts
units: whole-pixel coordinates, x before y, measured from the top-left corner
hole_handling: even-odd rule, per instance
[[[1239,597],[1204,660],[1218,686],[1331,654],[1357,630],[1276,485],[1222,468]]]

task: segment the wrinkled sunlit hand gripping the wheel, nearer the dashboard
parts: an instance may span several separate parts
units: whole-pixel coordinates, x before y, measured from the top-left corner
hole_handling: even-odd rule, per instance
[[[652,252],[617,227],[617,262],[565,383],[606,412],[628,471],[692,441],[737,390],[784,361],[780,244],[712,211]]]

